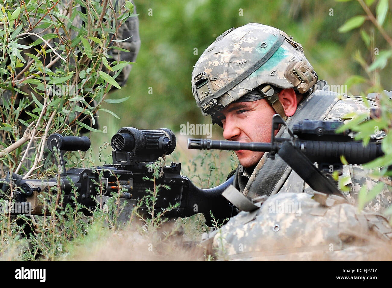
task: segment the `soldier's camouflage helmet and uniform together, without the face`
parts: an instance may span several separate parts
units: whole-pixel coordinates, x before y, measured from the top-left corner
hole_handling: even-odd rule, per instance
[[[225,31],[207,47],[192,72],[192,92],[203,114],[210,114],[213,123],[221,125],[216,112],[233,101],[264,98],[288,124],[298,109],[309,109],[303,102],[311,100],[316,93],[327,93],[315,89],[317,80],[299,43],[279,29],[251,23]],[[288,88],[305,98],[289,118],[276,101],[279,90]],[[257,98],[257,94],[262,98]],[[315,120],[343,121],[349,112],[370,113],[359,97],[336,95],[333,98]],[[370,103],[373,107],[376,105],[376,101],[370,100]],[[250,187],[266,158],[267,154],[254,170],[245,169],[237,175],[236,188],[249,198]],[[366,260],[377,252],[373,235],[377,239],[374,241],[389,240],[392,236],[387,219],[378,214],[391,205],[390,187],[384,185],[365,211],[358,212],[353,204],[359,187],[367,185],[370,189],[376,181],[356,165],[343,166],[339,177],[344,180],[343,185],[350,188],[345,193],[346,198],[313,191],[288,167],[277,179],[278,184],[263,193],[268,198],[256,204],[260,208],[241,211],[212,232],[205,243],[214,248],[218,259]],[[257,192],[252,196],[257,196]]]

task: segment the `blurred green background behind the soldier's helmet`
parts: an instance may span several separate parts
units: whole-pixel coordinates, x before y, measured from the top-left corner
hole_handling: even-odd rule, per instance
[[[370,9],[376,14],[378,1],[366,2],[373,2]],[[114,111],[120,120],[100,112],[100,129],[106,126],[107,134],[92,133],[93,143],[96,141],[97,146],[102,141],[109,142],[113,133],[123,126],[138,129],[168,127],[178,132],[180,124],[187,121],[211,123],[209,117],[201,116],[194,102],[192,67],[208,45],[231,27],[258,22],[285,31],[303,45],[319,78],[331,85],[343,85],[353,74],[368,77],[365,69],[355,61],[356,54],[360,53],[365,62],[371,63],[375,57],[374,47],[379,51],[390,49],[370,21],[348,33],[338,32],[346,20],[365,14],[357,1],[135,0],[135,4],[142,41],[137,63],[133,65],[127,85],[107,96],[130,98],[120,104],[104,104],[103,108]],[[390,13],[383,27],[390,34]],[[361,29],[370,36],[374,33],[370,49],[361,38]],[[381,87],[388,91],[392,90],[391,68],[389,61],[379,79]],[[369,92],[371,86],[369,83],[353,85],[348,94]],[[152,87],[152,94],[149,94],[149,87]],[[221,129],[214,126],[214,137],[219,137]]]

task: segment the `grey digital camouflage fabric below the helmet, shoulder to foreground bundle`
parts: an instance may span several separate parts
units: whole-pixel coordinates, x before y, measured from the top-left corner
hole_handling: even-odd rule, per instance
[[[368,100],[371,107],[376,107],[375,101]],[[343,96],[331,106],[321,119],[350,121],[345,117],[350,112],[370,114],[363,99],[355,96]],[[251,183],[253,175],[247,175],[247,172],[245,170],[245,175],[238,179]],[[240,212],[211,235],[210,241],[213,240],[212,245],[220,259],[368,260],[377,253],[379,255],[379,245],[374,243],[376,240],[372,235],[378,239],[392,237],[388,219],[381,215],[392,204],[392,191],[387,184],[375,199],[366,204],[365,210],[358,212],[360,188],[366,185],[370,190],[378,183],[363,167],[343,166],[339,181],[349,188],[344,192],[347,199],[342,197],[345,203],[328,207],[313,199],[319,192],[312,190],[290,167],[284,177],[279,182],[281,187],[276,187],[260,209]],[[245,185],[249,185],[239,184],[241,192]],[[279,205],[292,207],[293,204],[301,207],[300,215],[292,209],[279,211],[276,208]],[[271,208],[276,208],[277,213]],[[276,232],[273,230],[275,225],[279,225]]]

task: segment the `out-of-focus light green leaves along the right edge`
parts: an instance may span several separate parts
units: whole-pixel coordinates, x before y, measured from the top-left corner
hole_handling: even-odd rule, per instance
[[[376,6],[376,17],[372,13],[370,9],[370,5],[372,5],[373,1],[367,1],[366,3],[363,2],[362,0],[358,0],[359,4],[367,14],[366,18],[371,20],[372,24],[377,28],[379,34],[381,34],[387,42],[387,47],[385,49],[381,50],[381,47],[375,47],[375,33],[373,29],[368,29],[366,28],[365,25],[363,25],[363,22],[366,18],[364,16],[356,16],[353,17],[352,19],[356,19],[356,21],[348,20],[345,25],[341,27],[339,32],[347,32],[350,29],[356,28],[356,27],[361,27],[362,29],[360,30],[361,33],[361,38],[363,42],[365,42],[366,47],[369,49],[370,54],[372,55],[371,57],[371,63],[368,63],[362,56],[359,51],[357,51],[354,59],[356,62],[358,62],[363,69],[366,71],[368,79],[363,78],[362,76],[359,75],[353,75],[351,76],[347,82],[346,85],[350,86],[351,85],[356,85],[359,83],[367,83],[370,85],[368,88],[367,92],[371,91],[377,91],[381,92],[382,90],[382,85],[380,82],[380,72],[387,67],[388,59],[392,56],[392,39],[390,38],[390,35],[388,35],[385,32],[385,29],[383,28],[383,24],[385,24],[385,19],[387,19],[388,14],[390,16],[390,13],[388,13],[388,1],[387,0],[379,0],[377,2]],[[351,26],[348,25],[348,22],[352,24]],[[355,22],[355,23],[354,23]],[[350,29],[348,29],[350,28]],[[366,30],[370,30],[367,32]],[[371,35],[371,36],[370,36]],[[389,74],[388,70],[384,70],[385,74]],[[390,89],[389,89],[390,90]],[[361,93],[361,95],[365,95],[365,93]],[[369,106],[368,101],[363,98],[365,104]],[[382,144],[381,144],[381,149],[384,152],[384,155],[374,159],[373,161],[370,161],[369,163],[363,165],[365,168],[369,169],[370,171],[368,172],[368,177],[374,179],[374,181],[377,181],[378,183],[374,185],[371,189],[368,189],[367,183],[363,184],[361,189],[358,192],[358,210],[362,210],[365,208],[367,203],[372,201],[378,194],[381,193],[385,187],[389,191],[392,191],[391,187],[391,181],[390,178],[388,179],[387,176],[391,176],[392,173],[388,171],[388,168],[390,165],[392,165],[392,136],[391,136],[391,123],[392,123],[392,99],[389,99],[388,95],[385,92],[382,92],[379,94],[379,96],[376,98],[376,104],[378,106],[377,112],[373,113],[372,119],[369,121],[367,120],[367,117],[369,114],[358,114],[356,112],[351,113],[351,115],[346,115],[347,119],[354,118],[351,121],[348,121],[341,129],[340,131],[344,130],[352,130],[356,132],[355,139],[360,139],[363,140],[363,145],[366,146],[371,138],[374,138],[375,136],[379,137],[381,134],[381,131],[384,131],[386,136],[383,138]],[[341,179],[342,180],[342,179]],[[344,179],[343,181],[344,182]],[[340,181],[339,181],[340,184]],[[387,210],[386,215],[391,214],[392,206]],[[392,224],[392,218],[390,219],[390,223]]]

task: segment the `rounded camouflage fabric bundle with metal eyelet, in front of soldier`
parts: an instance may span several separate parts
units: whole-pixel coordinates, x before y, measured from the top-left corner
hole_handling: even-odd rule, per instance
[[[211,239],[218,259],[364,261],[378,252],[380,238],[392,235],[379,214],[360,214],[344,201],[312,198],[279,193],[258,210],[240,212]]]

